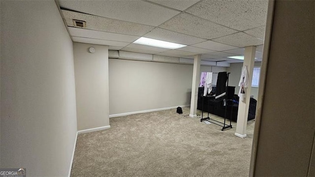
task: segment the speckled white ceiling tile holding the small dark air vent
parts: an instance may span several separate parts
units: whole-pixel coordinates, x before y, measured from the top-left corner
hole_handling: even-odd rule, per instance
[[[104,17],[98,17],[89,14],[83,14],[68,10],[62,10],[66,24],[73,27],[73,19],[86,21],[86,29],[94,29],[99,31],[122,33],[142,36],[150,30],[154,29],[152,26],[135,24],[121,20],[114,20]]]

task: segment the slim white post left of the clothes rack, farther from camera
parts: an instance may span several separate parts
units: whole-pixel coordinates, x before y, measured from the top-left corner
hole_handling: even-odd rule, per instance
[[[191,100],[190,100],[190,114],[189,117],[197,117],[197,100],[198,100],[198,87],[200,79],[200,62],[201,56],[196,55],[193,59],[192,71],[192,84],[191,84]]]

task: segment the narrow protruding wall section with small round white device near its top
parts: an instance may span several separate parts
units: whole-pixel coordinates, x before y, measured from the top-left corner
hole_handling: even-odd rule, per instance
[[[73,53],[78,130],[108,126],[108,47],[75,42]]]

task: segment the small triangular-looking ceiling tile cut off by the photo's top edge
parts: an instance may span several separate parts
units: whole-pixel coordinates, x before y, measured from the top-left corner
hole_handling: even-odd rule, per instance
[[[199,0],[149,0],[177,10],[185,10]]]

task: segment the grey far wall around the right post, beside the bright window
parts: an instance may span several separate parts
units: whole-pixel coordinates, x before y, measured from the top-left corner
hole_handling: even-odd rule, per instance
[[[256,66],[258,67],[260,65],[261,65],[261,62],[254,63],[254,67]],[[235,94],[238,94],[240,90],[238,83],[240,82],[242,66],[243,66],[243,63],[231,63],[231,66],[226,68],[226,71],[231,73],[229,75],[229,86],[235,86]],[[251,95],[253,95],[254,98],[257,100],[258,88],[252,87]]]

